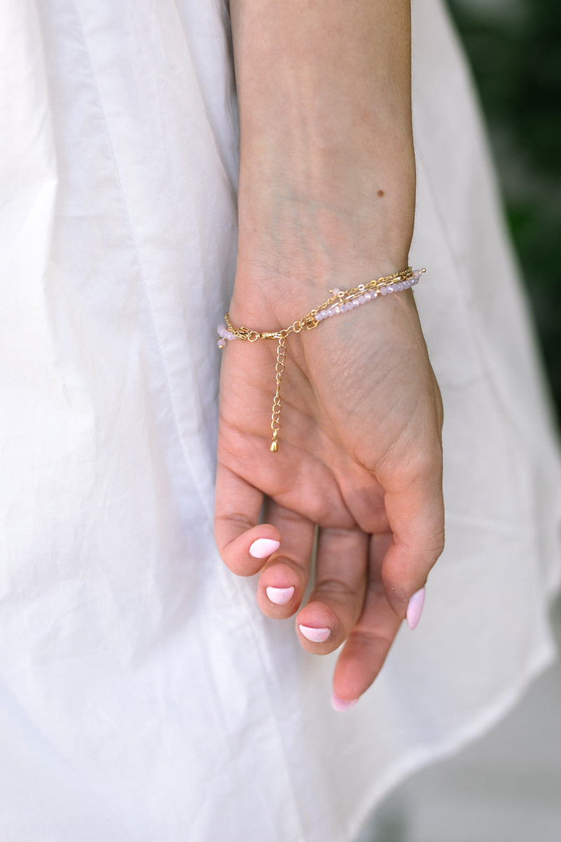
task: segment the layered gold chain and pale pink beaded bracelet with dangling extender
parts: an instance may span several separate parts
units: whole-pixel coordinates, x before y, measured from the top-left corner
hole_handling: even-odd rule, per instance
[[[277,365],[275,367],[275,375],[277,381],[277,391],[273,398],[273,413],[271,419],[271,429],[273,430],[273,438],[271,440],[271,450],[276,453],[278,450],[278,431],[280,429],[280,413],[281,413],[281,398],[280,398],[280,384],[284,373],[284,360],[286,358],[286,340],[290,333],[300,333],[301,330],[312,330],[317,328],[320,322],[325,318],[338,316],[340,313],[352,310],[353,307],[365,304],[367,301],[372,301],[378,296],[387,296],[391,292],[400,292],[401,290],[408,290],[410,286],[415,286],[419,283],[421,274],[426,269],[403,269],[400,272],[389,274],[385,278],[378,278],[377,280],[370,280],[368,284],[359,284],[352,287],[350,290],[340,290],[338,287],[329,290],[330,297],[317,307],[311,310],[306,316],[299,319],[298,322],[293,322],[288,328],[277,331],[257,331],[250,330],[250,328],[235,328],[230,322],[230,314],[225,314],[225,324],[218,326],[218,347],[224,348],[226,342],[232,339],[244,339],[246,342],[257,342],[257,339],[276,339],[277,345]]]

